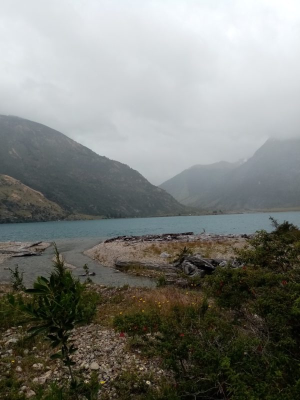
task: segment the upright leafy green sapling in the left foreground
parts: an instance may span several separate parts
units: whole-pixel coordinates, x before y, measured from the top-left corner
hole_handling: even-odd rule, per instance
[[[83,286],[65,268],[55,244],[54,253],[55,261],[49,279],[39,276],[33,288],[24,290],[33,296],[32,300],[25,303],[23,299],[15,299],[8,294],[8,301],[23,314],[26,322],[34,323],[27,331],[30,337],[42,333],[50,341],[51,347],[60,347],[50,358],[61,359],[67,366],[71,377],[70,389],[78,399],[77,392],[82,388],[82,383],[76,381],[71,368],[75,364],[71,355],[77,348],[70,335],[74,326],[84,321]]]

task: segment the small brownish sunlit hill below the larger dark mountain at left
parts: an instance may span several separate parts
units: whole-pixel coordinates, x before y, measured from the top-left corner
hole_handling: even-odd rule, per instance
[[[59,205],[7,175],[0,175],[0,223],[63,218]]]

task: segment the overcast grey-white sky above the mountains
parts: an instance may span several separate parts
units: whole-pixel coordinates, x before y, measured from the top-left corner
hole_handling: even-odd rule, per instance
[[[160,184],[300,136],[298,0],[0,0],[0,114]]]

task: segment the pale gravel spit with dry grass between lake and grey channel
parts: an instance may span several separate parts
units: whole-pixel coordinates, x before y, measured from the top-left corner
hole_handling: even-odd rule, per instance
[[[161,275],[160,271],[145,270],[136,266],[136,264],[154,263],[169,267],[176,258],[177,253],[184,246],[192,249],[193,253],[201,254],[203,257],[230,260],[234,257],[235,249],[247,245],[247,237],[234,234],[188,234],[171,240],[162,240],[159,237],[153,239],[153,236],[159,235],[146,236],[134,236],[131,239],[128,239],[130,236],[108,239],[85,250],[83,253],[110,268],[116,268],[115,262],[131,262],[133,266],[135,264],[135,267],[129,268],[127,270],[128,273],[157,277]]]

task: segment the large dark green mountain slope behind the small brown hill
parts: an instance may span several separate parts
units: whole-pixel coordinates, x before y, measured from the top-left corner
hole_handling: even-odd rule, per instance
[[[126,217],[185,211],[136,170],[40,123],[0,115],[0,143],[0,173],[40,191],[67,213]]]

